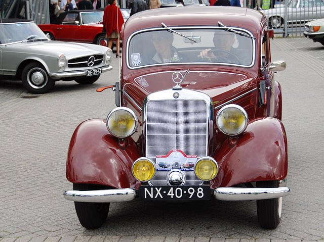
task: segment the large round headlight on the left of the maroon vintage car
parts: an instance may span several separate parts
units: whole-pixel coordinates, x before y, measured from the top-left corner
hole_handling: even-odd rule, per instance
[[[137,124],[135,113],[125,107],[113,109],[106,119],[108,131],[117,138],[131,136],[136,131]]]

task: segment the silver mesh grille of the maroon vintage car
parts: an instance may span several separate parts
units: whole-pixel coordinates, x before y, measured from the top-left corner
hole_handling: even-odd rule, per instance
[[[154,163],[156,156],[181,150],[187,156],[207,155],[209,112],[204,100],[157,100],[146,105],[146,155]],[[203,181],[193,169],[182,169],[184,185]],[[158,170],[151,185],[168,185],[167,170]]]

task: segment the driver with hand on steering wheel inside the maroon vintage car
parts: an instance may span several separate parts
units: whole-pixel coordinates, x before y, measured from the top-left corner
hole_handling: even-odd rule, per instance
[[[214,58],[223,62],[227,60],[231,63],[237,63],[237,53],[233,48],[233,44],[235,42],[234,33],[228,32],[215,32],[213,42],[215,45],[215,49],[206,49],[200,52],[198,55],[199,58],[208,58],[209,60]]]

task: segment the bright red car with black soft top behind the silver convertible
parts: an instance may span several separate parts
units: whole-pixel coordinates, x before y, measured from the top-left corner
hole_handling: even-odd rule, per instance
[[[107,46],[102,32],[103,11],[73,10],[63,12],[52,24],[41,24],[39,28],[52,40],[94,43]]]

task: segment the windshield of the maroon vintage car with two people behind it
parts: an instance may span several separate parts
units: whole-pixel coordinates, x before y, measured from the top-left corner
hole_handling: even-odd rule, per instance
[[[181,63],[253,65],[255,40],[248,32],[235,29],[247,37],[222,28],[173,30],[178,34],[156,30],[132,36],[127,45],[129,67]]]

